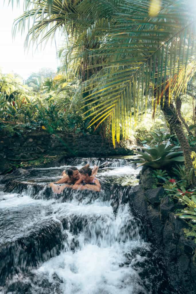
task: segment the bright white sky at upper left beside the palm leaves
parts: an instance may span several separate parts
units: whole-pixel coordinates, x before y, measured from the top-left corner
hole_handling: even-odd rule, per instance
[[[55,43],[48,42],[45,49],[35,52],[30,47],[29,51],[24,51],[25,35],[16,34],[12,39],[12,24],[14,19],[23,13],[23,1],[20,0],[20,7],[8,4],[8,0],[0,0],[0,69],[3,73],[17,73],[24,79],[32,72],[37,72],[42,67],[57,68],[56,46]],[[16,2],[16,1],[14,1]],[[58,42],[57,42],[58,46]]]

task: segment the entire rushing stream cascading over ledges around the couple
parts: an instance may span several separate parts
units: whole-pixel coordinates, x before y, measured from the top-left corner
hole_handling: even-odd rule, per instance
[[[48,188],[87,162],[103,164],[100,193]],[[138,172],[128,159],[77,158],[1,185],[0,293],[163,293],[161,260],[129,203]]]

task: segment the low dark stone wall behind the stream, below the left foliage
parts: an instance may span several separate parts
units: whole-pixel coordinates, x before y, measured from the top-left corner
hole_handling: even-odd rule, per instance
[[[28,166],[47,163],[59,157],[108,157],[132,153],[124,147],[114,149],[112,143],[99,135],[29,132],[22,136],[0,138],[0,174],[10,164]]]

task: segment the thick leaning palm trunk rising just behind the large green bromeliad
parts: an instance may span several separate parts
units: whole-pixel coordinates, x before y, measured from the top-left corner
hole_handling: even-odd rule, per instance
[[[165,99],[164,106],[162,104],[161,108],[163,110],[163,114],[167,122],[170,125],[171,131],[172,132],[174,131],[176,133],[178,141],[184,152],[186,170],[187,170],[187,173],[189,173],[190,169],[192,168],[191,149],[187,141],[187,138],[185,136],[185,133],[183,131],[182,122],[180,121],[177,115],[177,111],[175,111],[175,107],[172,102],[170,102],[170,105],[169,105],[168,100]]]

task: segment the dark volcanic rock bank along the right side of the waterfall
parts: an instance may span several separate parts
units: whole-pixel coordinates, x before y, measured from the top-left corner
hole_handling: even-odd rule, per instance
[[[166,273],[175,293],[196,293],[196,245],[185,239],[188,223],[172,213],[175,205],[169,197],[163,197],[163,188],[149,189],[152,171],[141,173],[141,185],[132,188],[129,199],[135,213],[146,222],[147,238],[160,248],[166,265]],[[148,184],[148,180],[150,183]],[[163,197],[163,198],[162,198]]]

